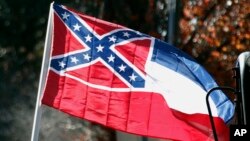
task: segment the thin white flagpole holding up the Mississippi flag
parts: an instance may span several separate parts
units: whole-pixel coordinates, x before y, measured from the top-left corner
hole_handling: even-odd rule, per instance
[[[53,14],[52,6],[53,6],[53,3],[51,3],[50,11],[49,11],[46,38],[45,38],[44,51],[43,51],[43,60],[42,60],[42,66],[41,66],[41,72],[40,72],[35,114],[34,114],[32,134],[31,134],[31,141],[38,141],[38,137],[39,137],[40,122],[41,122],[41,117],[42,117],[41,97],[42,97],[42,91],[43,91],[44,84],[45,84],[45,78],[48,72],[48,66],[49,66],[50,44],[51,44],[51,34],[52,34],[51,33],[52,32],[51,18]]]

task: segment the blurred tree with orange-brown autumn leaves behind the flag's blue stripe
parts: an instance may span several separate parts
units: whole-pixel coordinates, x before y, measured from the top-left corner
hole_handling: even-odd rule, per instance
[[[231,69],[250,49],[248,0],[182,0],[178,46],[195,57],[220,85],[234,86]]]

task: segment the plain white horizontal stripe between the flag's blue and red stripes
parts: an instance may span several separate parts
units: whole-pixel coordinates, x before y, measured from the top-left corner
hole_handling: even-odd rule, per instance
[[[146,81],[146,88],[162,94],[169,107],[187,114],[208,114],[207,92],[192,80],[151,61],[146,64],[146,72],[147,79],[151,80]],[[209,102],[213,116],[217,117],[217,109],[211,98]]]

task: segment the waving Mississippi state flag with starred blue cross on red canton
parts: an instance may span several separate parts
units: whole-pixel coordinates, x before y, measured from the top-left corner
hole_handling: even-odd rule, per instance
[[[216,82],[187,54],[138,31],[52,4],[42,104],[142,136],[213,140],[206,94]],[[234,105],[210,96],[220,140]]]

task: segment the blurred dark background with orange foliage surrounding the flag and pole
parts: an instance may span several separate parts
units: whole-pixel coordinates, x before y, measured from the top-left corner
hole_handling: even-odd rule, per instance
[[[28,141],[51,0],[0,0],[0,140]],[[249,0],[56,0],[193,56],[220,86],[250,50]],[[112,129],[43,108],[40,141],[115,141]],[[142,140],[147,141],[147,138]]]

